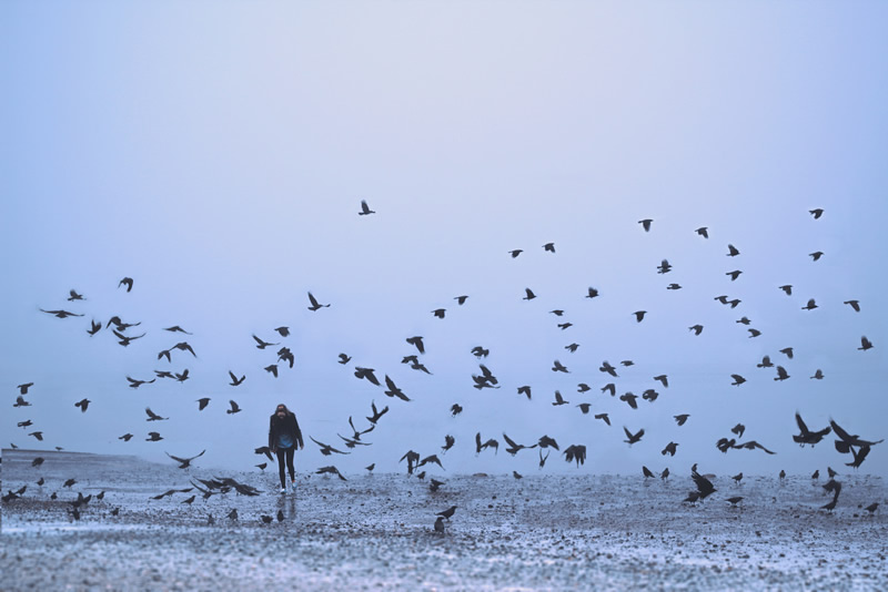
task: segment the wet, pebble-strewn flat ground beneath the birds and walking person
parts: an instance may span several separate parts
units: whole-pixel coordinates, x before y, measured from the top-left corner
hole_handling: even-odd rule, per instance
[[[32,467],[36,457],[46,461]],[[281,496],[276,471],[195,465],[3,450],[3,493],[27,490],[2,503],[0,589],[888,590],[888,508],[864,510],[886,502],[880,478],[838,477],[844,489],[829,513],[820,509],[831,499],[825,479],[810,476],[741,484],[718,476],[718,491],[692,506],[682,503],[689,469],[665,481],[302,473],[296,492]],[[261,494],[150,499],[213,477]],[[445,481],[436,492],[431,477]],[[93,498],[75,520],[78,493]],[[731,496],[745,499],[734,508]],[[434,532],[435,513],[451,506],[446,532]],[[226,518],[232,509],[236,520]]]

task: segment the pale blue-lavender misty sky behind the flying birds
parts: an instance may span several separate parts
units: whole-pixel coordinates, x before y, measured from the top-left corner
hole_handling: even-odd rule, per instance
[[[885,3],[11,1],[0,53],[3,447],[159,461],[205,448],[199,466],[246,470],[278,402],[306,436],[297,470],[346,474],[403,471],[404,452],[440,452],[448,433],[435,474],[536,471],[537,450],[508,456],[503,432],[587,447],[584,467],[554,451],[546,471],[846,472],[833,435],[793,442],[796,411],[813,429],[834,418],[888,435]],[[361,200],[376,213],[359,216]],[[87,299],[67,302],[72,288]],[[330,307],[307,310],[310,290]],[[85,333],[113,315],[145,336]],[[264,371],[280,346],[259,350],[253,334],[289,347],[294,368]],[[417,335],[432,375],[401,364]],[[875,347],[858,350],[861,336]],[[183,339],[196,357],[157,359]],[[474,346],[500,389],[473,388]],[[790,377],[757,368],[765,355]],[[185,368],[182,384],[125,379]],[[32,405],[13,408],[30,381]],[[599,390],[612,381],[616,397]],[[556,389],[569,405],[552,405]],[[350,416],[369,426],[373,400],[391,410],[372,446],[325,458],[307,440],[344,450],[337,433]],[[170,419],[147,422],[147,406]],[[777,455],[719,452],[738,422],[739,441]],[[646,435],[629,447],[623,426]],[[478,431],[497,455],[475,456]],[[887,476],[886,451],[861,470]]]

